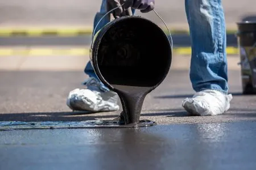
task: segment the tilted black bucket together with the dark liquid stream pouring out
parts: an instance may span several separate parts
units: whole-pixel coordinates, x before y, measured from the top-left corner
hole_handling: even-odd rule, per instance
[[[90,50],[98,78],[121,99],[125,124],[138,124],[144,97],[166,78],[171,57],[166,34],[141,16],[123,16],[105,25]]]

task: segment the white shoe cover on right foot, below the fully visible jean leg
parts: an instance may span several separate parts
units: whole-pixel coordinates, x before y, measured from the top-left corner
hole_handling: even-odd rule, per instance
[[[192,98],[183,100],[184,109],[196,116],[210,116],[228,111],[232,95],[223,94],[217,90],[197,92]]]

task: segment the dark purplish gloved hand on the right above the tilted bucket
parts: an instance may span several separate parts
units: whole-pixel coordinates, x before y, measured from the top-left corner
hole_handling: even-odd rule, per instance
[[[137,10],[141,10],[142,13],[154,10],[155,0],[126,0],[123,7],[125,9],[131,7]]]

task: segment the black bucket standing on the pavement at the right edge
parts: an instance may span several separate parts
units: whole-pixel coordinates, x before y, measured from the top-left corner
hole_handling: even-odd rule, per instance
[[[256,94],[256,22],[237,25],[243,94]]]

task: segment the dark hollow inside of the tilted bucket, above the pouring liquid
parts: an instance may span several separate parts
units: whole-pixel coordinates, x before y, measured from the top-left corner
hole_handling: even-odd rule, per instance
[[[171,64],[170,42],[162,29],[140,17],[120,18],[106,27],[97,49],[106,82],[141,87],[162,82]]]

